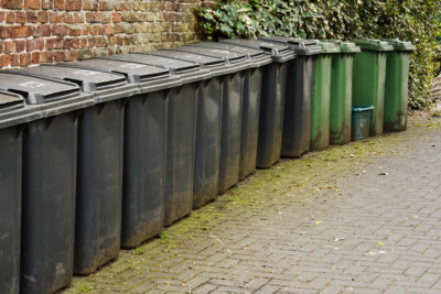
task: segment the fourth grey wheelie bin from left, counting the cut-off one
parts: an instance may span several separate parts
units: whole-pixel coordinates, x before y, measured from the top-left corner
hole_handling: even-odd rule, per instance
[[[169,69],[146,64],[103,58],[75,64],[122,74],[140,90],[125,105],[123,127],[121,247],[136,248],[162,231],[168,89],[181,81]]]

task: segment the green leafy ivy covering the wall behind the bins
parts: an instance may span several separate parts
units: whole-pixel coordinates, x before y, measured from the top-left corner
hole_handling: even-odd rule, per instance
[[[438,74],[439,0],[220,0],[197,11],[207,39],[287,35],[302,39],[411,41],[409,106],[423,108]]]

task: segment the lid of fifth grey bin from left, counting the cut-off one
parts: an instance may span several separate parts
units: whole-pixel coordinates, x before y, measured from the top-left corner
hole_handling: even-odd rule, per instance
[[[155,56],[147,53],[118,54],[103,57],[104,59],[140,63],[165,68],[171,75],[179,75],[182,83],[192,83],[211,77],[208,69],[203,69],[197,63],[176,58]],[[218,62],[218,61],[217,61]],[[220,61],[225,63],[224,61]]]

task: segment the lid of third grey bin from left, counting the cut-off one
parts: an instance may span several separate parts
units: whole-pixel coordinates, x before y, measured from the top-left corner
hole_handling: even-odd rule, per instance
[[[51,77],[77,84],[85,92],[93,92],[97,102],[109,101],[136,94],[136,86],[128,85],[126,77],[99,69],[83,68],[78,62],[42,64],[23,68],[24,75]]]

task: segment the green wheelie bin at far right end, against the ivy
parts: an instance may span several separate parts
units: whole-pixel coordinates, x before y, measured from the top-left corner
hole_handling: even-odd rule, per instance
[[[407,129],[409,56],[417,50],[410,42],[389,40],[394,51],[387,56],[386,91],[383,128],[385,131]]]

